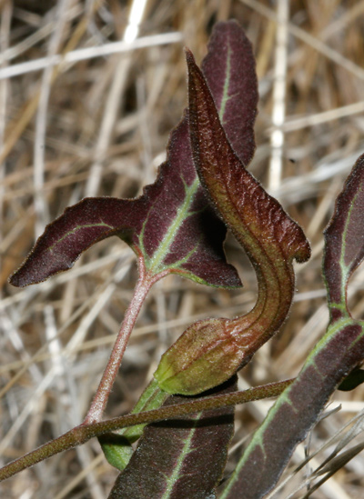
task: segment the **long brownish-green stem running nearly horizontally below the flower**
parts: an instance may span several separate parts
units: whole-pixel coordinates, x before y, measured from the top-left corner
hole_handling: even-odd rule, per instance
[[[288,379],[278,383],[265,384],[263,386],[257,386],[256,388],[250,388],[243,392],[202,397],[195,400],[189,399],[188,402],[183,404],[168,405],[167,407],[147,411],[145,413],[126,414],[124,416],[119,416],[108,421],[94,424],[80,424],[66,434],[63,434],[55,440],[38,447],[35,451],[25,454],[23,457],[16,459],[12,463],[6,464],[0,470],[0,481],[25,470],[25,468],[29,468],[34,464],[40,463],[52,455],[72,449],[77,445],[85,444],[88,440],[95,436],[100,436],[102,434],[136,424],[153,423],[168,418],[176,418],[181,415],[199,413],[206,409],[218,409],[228,405],[243,404],[253,400],[277,396],[278,394],[281,394],[283,390],[285,390],[285,388],[287,388],[293,381],[293,379]]]

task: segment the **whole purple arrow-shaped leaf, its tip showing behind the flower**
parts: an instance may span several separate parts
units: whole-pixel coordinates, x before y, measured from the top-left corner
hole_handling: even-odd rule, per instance
[[[251,46],[235,22],[219,23],[204,71],[219,103],[227,135],[244,161],[253,155],[257,78]],[[238,132],[237,132],[238,130]],[[237,287],[225,260],[225,226],[210,208],[192,161],[187,117],[172,132],[167,162],[138,199],[87,198],[47,225],[10,279],[25,286],[69,269],[91,245],[111,235],[126,241],[150,274],[173,272],[197,282]]]

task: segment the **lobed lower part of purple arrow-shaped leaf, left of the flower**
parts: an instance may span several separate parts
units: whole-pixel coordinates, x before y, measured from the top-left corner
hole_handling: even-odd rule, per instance
[[[138,199],[86,198],[47,225],[11,284],[24,286],[67,270],[89,246],[117,235],[151,274],[175,272],[197,282],[236,287],[222,249],[226,229],[212,213],[191,160],[187,120],[171,135],[167,162]]]

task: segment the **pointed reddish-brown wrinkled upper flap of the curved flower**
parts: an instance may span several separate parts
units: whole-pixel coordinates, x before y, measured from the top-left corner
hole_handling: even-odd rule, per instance
[[[302,229],[239,161],[220,124],[207,82],[188,51],[187,64],[194,161],[217,212],[254,260],[256,248],[250,245],[258,245],[260,251],[267,248],[279,260],[283,256],[306,261],[309,245]]]

